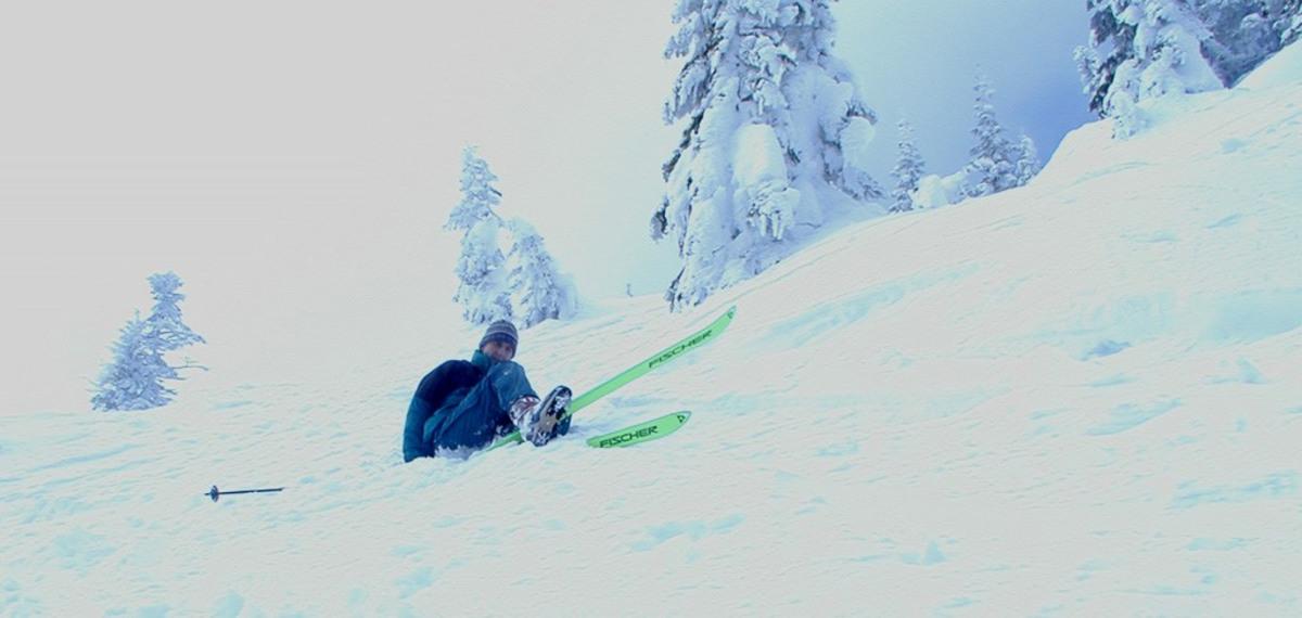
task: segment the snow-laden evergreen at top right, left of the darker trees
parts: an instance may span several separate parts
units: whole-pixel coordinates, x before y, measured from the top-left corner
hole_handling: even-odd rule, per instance
[[[1090,46],[1075,57],[1090,109],[1113,118],[1117,137],[1143,129],[1144,100],[1223,87],[1202,55],[1212,33],[1186,0],[1088,0],[1086,7]]]

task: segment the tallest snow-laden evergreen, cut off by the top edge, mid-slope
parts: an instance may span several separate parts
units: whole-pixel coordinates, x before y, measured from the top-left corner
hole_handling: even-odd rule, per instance
[[[881,196],[866,157],[876,118],[832,56],[828,4],[678,0],[665,57],[685,64],[664,116],[685,128],[651,219],[684,260],[672,308],[780,260],[827,208]]]

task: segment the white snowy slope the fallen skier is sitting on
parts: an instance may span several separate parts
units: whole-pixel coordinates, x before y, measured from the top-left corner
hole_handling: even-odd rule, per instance
[[[400,464],[415,383],[471,329],[7,419],[0,614],[1297,615],[1299,55],[695,312],[522,333],[535,385],[582,390],[736,304],[572,435],[695,412],[658,442]]]

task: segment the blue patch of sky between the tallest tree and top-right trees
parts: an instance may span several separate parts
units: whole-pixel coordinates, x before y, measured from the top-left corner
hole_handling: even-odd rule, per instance
[[[1072,59],[1087,39],[1085,0],[846,0],[835,10],[837,52],[880,117],[887,172],[901,117],[914,125],[928,172],[948,174],[966,163],[978,70],[995,86],[1009,137],[1025,131],[1044,160],[1068,131],[1098,120]]]

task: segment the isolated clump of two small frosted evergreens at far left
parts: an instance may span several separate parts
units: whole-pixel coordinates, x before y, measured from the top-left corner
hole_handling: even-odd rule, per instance
[[[151,275],[150,288],[154,310],[141,319],[139,312],[126,323],[113,345],[113,360],[104,367],[96,384],[91,406],[95,410],[147,410],[172,401],[174,390],[163,386],[161,380],[181,380],[163,353],[203,343],[184,321],[180,302],[185,295],[177,290],[184,285],[173,272]]]

